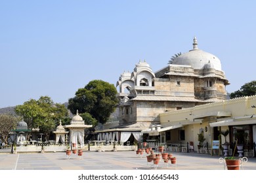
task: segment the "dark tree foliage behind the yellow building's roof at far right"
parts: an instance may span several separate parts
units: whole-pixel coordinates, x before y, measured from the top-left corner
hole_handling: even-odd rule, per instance
[[[247,82],[240,88],[240,90],[230,93],[230,99],[251,95],[256,95],[256,80]]]

